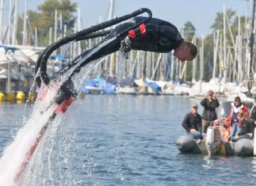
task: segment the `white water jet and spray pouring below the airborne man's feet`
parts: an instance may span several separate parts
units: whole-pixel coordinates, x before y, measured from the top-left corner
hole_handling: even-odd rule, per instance
[[[75,123],[72,120],[72,112],[78,108],[78,102],[74,101],[70,106],[68,116],[57,116],[55,120],[48,126],[44,136],[37,146],[36,151],[27,164],[21,179],[15,184],[14,177],[17,174],[26,152],[36,141],[38,133],[44,127],[49,117],[57,108],[54,103],[60,85],[65,82],[73,71],[81,65],[81,62],[96,53],[101,47],[107,45],[115,38],[109,39],[105,43],[97,46],[89,52],[85,57],[81,58],[73,68],[71,68],[63,77],[58,78],[58,85],[46,87],[42,84],[38,97],[48,89],[48,93],[44,100],[36,100],[33,111],[29,117],[23,117],[24,126],[19,129],[13,142],[7,146],[0,159],[0,183],[1,185],[77,185],[79,181],[75,181],[76,175],[72,174],[73,169],[70,167],[70,161],[74,158],[74,153],[70,149],[74,147],[76,139]],[[121,55],[120,55],[121,56]],[[74,76],[74,85],[76,88],[81,82],[88,78],[89,73],[95,68],[102,59],[90,62],[80,74]],[[119,60],[120,61],[120,60]],[[121,68],[120,72],[121,72]],[[121,77],[121,75],[120,75]],[[65,119],[67,121],[65,121]],[[26,120],[26,121],[25,121]],[[118,130],[118,129],[117,129]],[[117,131],[118,141],[118,131]],[[54,150],[53,150],[54,149]],[[64,170],[63,170],[64,169]],[[65,171],[66,170],[66,171]],[[57,175],[57,176],[56,176]]]

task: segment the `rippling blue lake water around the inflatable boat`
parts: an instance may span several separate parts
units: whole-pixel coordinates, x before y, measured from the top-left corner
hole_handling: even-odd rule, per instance
[[[199,102],[86,95],[49,126],[19,185],[255,185],[256,157],[183,155],[176,149],[176,138],[185,133],[183,117]],[[1,156],[32,107],[0,105]]]

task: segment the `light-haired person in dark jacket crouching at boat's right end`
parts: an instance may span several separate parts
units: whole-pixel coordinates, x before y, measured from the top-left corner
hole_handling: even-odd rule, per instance
[[[253,138],[256,121],[253,118],[246,116],[243,110],[239,110],[237,113],[237,118],[239,121],[241,121],[241,130],[231,139],[231,141],[235,142],[242,138]]]

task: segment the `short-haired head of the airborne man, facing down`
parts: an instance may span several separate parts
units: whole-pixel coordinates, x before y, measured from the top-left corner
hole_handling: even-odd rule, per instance
[[[183,41],[180,46],[174,50],[174,56],[180,61],[192,61],[198,54],[198,49],[191,42]]]

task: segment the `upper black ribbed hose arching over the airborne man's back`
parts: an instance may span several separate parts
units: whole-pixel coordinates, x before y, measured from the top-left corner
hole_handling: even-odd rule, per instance
[[[148,18],[145,19],[144,21],[141,21],[141,22],[139,22],[139,23],[129,27],[128,29],[124,30],[122,33],[117,35],[117,37],[120,37],[121,35],[126,34],[129,30],[134,29],[135,27],[139,26],[140,24],[148,22],[152,18],[151,11],[149,9],[146,9],[146,8],[142,8],[142,9],[136,10],[136,11],[134,11],[131,14],[124,15],[123,17],[111,19],[109,21],[100,23],[99,25],[95,25],[95,26],[89,27],[88,29],[84,29],[84,30],[78,31],[77,33],[68,35],[68,36],[60,39],[59,41],[53,43],[52,45],[48,46],[42,52],[41,60],[37,61],[37,63],[40,63],[39,64],[40,65],[40,73],[41,73],[41,78],[44,81],[44,83],[46,85],[48,85],[49,82],[50,82],[50,79],[49,79],[49,77],[48,77],[48,75],[46,73],[47,61],[48,61],[48,58],[49,58],[50,54],[52,54],[54,52],[54,50],[60,48],[60,46],[65,45],[66,43],[69,43],[71,41],[76,40],[77,38],[81,38],[81,37],[84,37],[84,36],[86,36],[88,34],[91,34],[91,33],[95,32],[95,31],[99,31],[99,30],[105,29],[105,28],[107,28],[109,26],[116,25],[117,23],[123,22],[123,21],[125,21],[125,20],[127,20],[129,18],[132,18],[132,17],[136,17],[137,15],[142,14],[144,12],[148,13]],[[39,65],[36,64],[36,66],[39,66]],[[37,71],[38,71],[38,69],[37,69]],[[37,71],[35,69],[35,73],[37,73]],[[38,86],[40,86],[40,85],[38,85]]]

